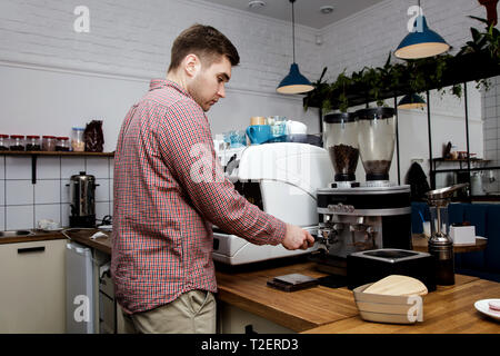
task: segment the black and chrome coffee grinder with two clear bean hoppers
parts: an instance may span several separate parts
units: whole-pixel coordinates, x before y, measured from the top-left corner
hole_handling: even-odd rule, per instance
[[[318,269],[346,276],[347,256],[358,251],[411,249],[410,186],[389,180],[394,151],[394,109],[378,107],[329,113],[324,148],[334,181],[318,189]],[[366,182],[356,181],[361,157]]]

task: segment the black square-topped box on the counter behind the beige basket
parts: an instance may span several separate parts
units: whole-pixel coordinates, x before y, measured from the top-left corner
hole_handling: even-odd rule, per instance
[[[434,258],[427,253],[381,248],[347,256],[349,289],[374,283],[390,275],[419,279],[429,291],[436,290]]]

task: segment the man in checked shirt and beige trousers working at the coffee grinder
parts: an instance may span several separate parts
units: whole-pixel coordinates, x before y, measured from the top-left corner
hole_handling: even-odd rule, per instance
[[[222,33],[192,26],[173,42],[167,79],[152,80],[122,123],[111,271],[130,330],[216,332],[212,225],[258,245],[313,244],[241,197],[214,156],[204,111],[224,98],[238,62]]]

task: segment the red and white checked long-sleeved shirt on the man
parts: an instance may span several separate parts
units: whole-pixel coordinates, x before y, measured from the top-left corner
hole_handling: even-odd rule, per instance
[[[286,233],[224,178],[203,110],[164,79],[151,80],[124,118],[113,199],[111,273],[127,313],[217,291],[212,224],[257,245],[278,245]]]

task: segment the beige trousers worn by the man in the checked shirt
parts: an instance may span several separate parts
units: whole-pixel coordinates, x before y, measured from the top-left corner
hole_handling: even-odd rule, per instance
[[[190,290],[152,310],[123,312],[123,319],[127,334],[216,334],[216,298],[207,290]]]

